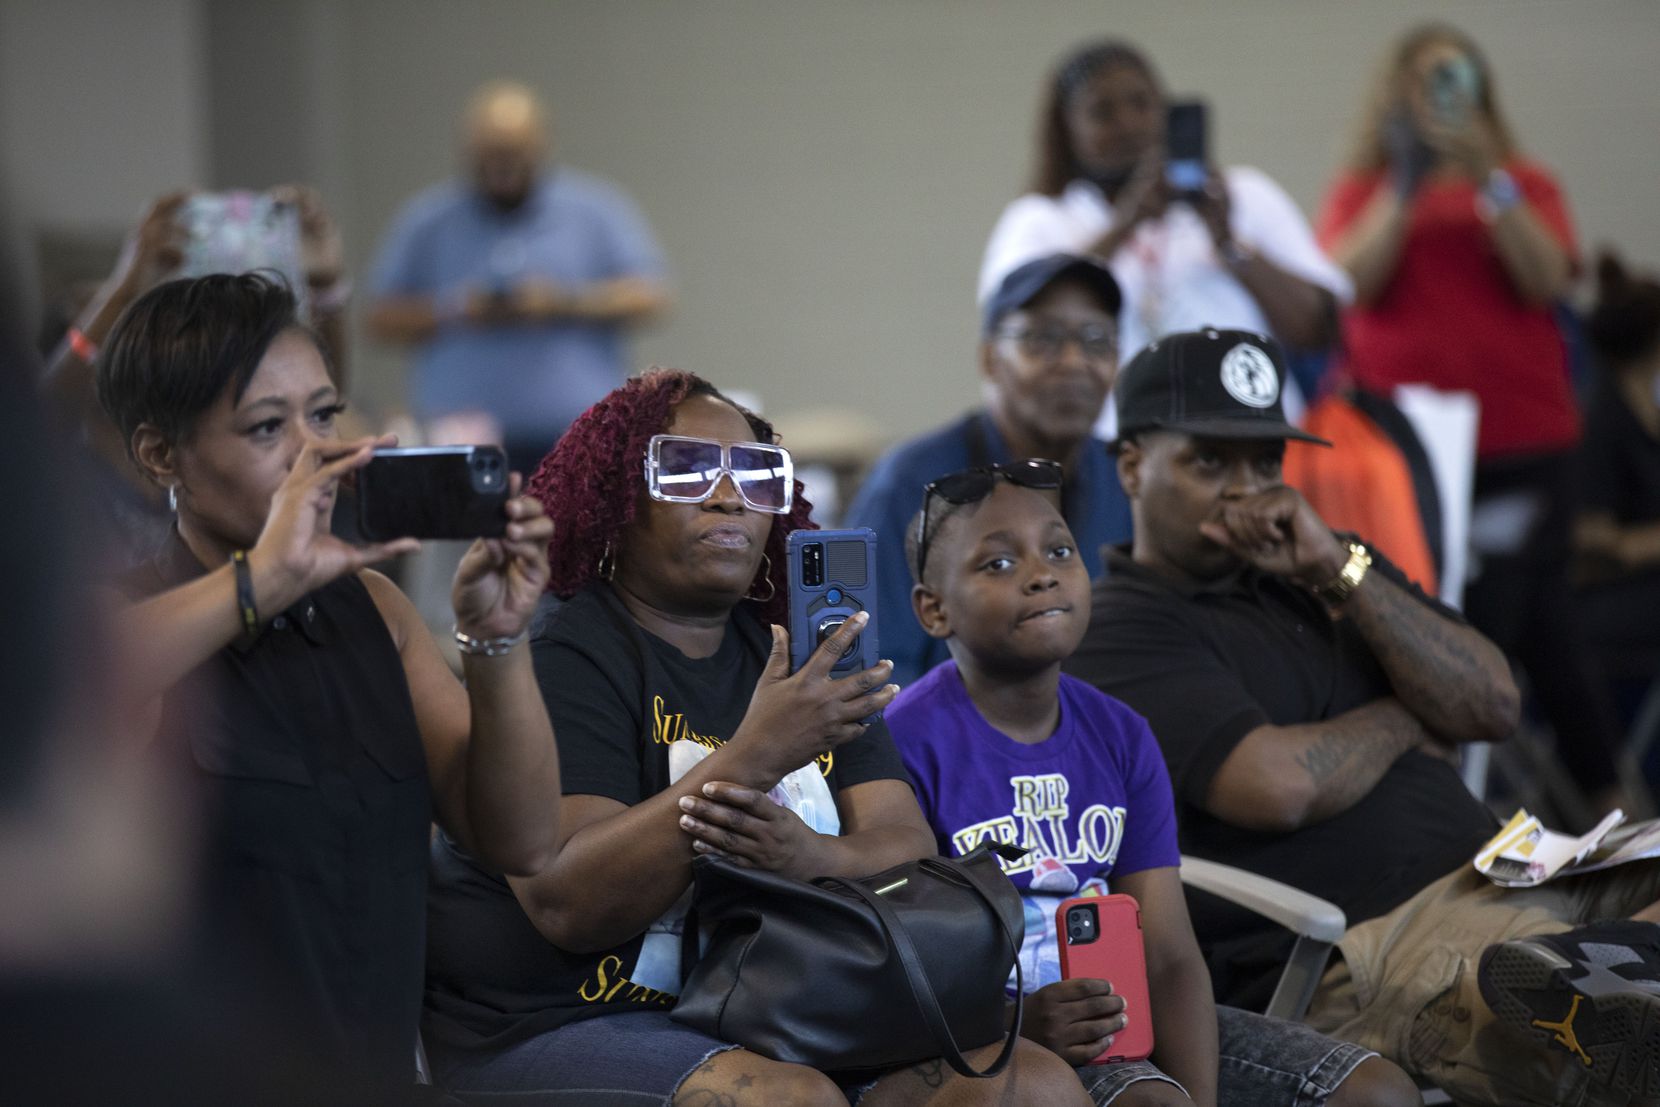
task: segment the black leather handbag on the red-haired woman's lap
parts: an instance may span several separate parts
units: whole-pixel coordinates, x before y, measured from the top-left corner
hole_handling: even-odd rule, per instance
[[[1019,891],[998,856],[1021,853],[981,845],[954,860],[812,883],[701,856],[687,946],[696,926],[710,936],[672,1016],[822,1070],[943,1057],[963,1075],[996,1075],[1021,1032],[1019,1004],[1004,1029],[1004,984],[1011,964],[1019,981],[1026,936]],[[999,1039],[989,1069],[976,1072],[963,1059],[964,1049]]]

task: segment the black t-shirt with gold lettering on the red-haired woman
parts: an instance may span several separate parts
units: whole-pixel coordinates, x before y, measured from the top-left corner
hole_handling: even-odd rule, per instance
[[[564,793],[634,805],[667,788],[669,742],[714,747],[730,739],[769,649],[765,627],[747,609],[734,614],[720,649],[701,659],[642,631],[608,586],[554,609],[538,626],[531,651],[559,744]],[[908,780],[881,722],[825,755],[820,768],[832,792]],[[677,978],[662,979],[661,966],[646,964],[652,956],[644,934],[599,953],[559,949],[536,931],[500,875],[443,835],[433,840],[430,1047],[493,1051],[578,1019],[669,1007]]]

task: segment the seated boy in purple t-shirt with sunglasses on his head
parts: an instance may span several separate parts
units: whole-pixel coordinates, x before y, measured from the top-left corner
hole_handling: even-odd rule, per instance
[[[911,602],[951,661],[885,712],[941,853],[988,836],[1031,851],[1006,866],[1026,900],[1024,1034],[1086,1066],[1079,1077],[1097,1104],[1210,1105],[1218,1085],[1227,1104],[1421,1102],[1370,1051],[1215,1007],[1187,919],[1159,745],[1140,715],[1061,674],[1089,624],[1089,574],[1057,491],[1049,461],[928,486],[906,534]],[[1125,1011],[1107,981],[1059,978],[1054,908],[1106,895],[1109,881],[1140,903],[1150,1011]],[[1152,1057],[1087,1066],[1129,1019],[1152,1019]]]

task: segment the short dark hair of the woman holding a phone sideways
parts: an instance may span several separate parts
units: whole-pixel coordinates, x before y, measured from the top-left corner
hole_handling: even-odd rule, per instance
[[[138,297],[110,332],[98,358],[98,403],[121,428],[128,450],[141,423],[181,441],[226,388],[232,403],[242,398],[266,350],[286,330],[302,330],[315,344],[281,277],[168,280]]]

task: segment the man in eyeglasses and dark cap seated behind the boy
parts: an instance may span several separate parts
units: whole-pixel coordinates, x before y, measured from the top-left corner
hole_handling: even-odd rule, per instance
[[[1120,304],[1112,272],[1087,257],[1054,254],[1009,272],[983,314],[986,405],[890,450],[853,498],[845,524],[878,538],[881,652],[898,684],[948,657],[910,616],[905,528],[930,481],[1024,458],[1059,461],[1061,513],[1091,578],[1101,574],[1101,548],[1129,539],[1129,503],[1104,443],[1091,436],[1119,368]]]

